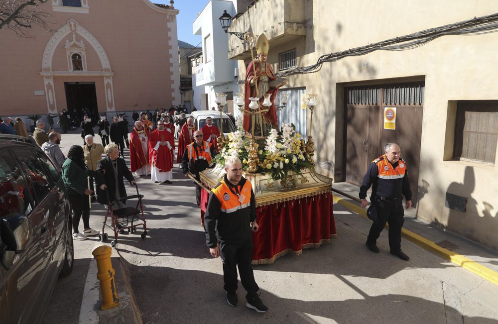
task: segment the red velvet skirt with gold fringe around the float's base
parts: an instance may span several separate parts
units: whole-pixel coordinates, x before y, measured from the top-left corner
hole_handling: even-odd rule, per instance
[[[202,190],[201,222],[209,193]],[[256,208],[259,230],[252,233],[252,264],[270,264],[287,253],[301,254],[337,237],[332,193]]]

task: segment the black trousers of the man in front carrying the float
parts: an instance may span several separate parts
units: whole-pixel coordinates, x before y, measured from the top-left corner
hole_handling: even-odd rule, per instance
[[[220,256],[223,261],[223,289],[228,294],[235,294],[238,287],[237,266],[241,275],[242,286],[248,292],[246,299],[257,297],[259,287],[254,280],[254,273],[250,264],[252,258],[252,241],[246,240],[243,243],[220,243]]]

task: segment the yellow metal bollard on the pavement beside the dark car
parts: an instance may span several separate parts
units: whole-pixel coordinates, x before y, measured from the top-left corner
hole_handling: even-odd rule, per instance
[[[97,260],[97,279],[100,281],[102,292],[101,310],[108,310],[120,305],[120,298],[114,283],[115,271],[111,264],[112,252],[113,249],[107,245],[99,246],[92,251],[95,260]]]

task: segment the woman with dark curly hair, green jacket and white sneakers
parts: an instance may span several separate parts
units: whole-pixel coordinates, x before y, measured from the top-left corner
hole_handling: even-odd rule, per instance
[[[73,209],[73,237],[77,240],[85,240],[87,236],[99,234],[99,231],[90,228],[89,195],[93,191],[88,188],[83,148],[78,145],[71,146],[67,157],[62,165],[62,181],[64,182],[66,193]],[[78,231],[82,215],[83,234]]]

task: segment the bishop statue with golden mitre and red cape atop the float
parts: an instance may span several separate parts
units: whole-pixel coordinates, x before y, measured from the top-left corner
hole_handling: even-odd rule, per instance
[[[267,133],[268,126],[278,128],[277,113],[275,107],[275,96],[277,95],[278,88],[283,86],[287,80],[276,78],[271,64],[267,63],[269,43],[264,34],[259,35],[256,40],[256,56],[249,62],[246,71],[246,85],[245,85],[245,107],[249,106],[249,98],[259,99],[259,108],[269,109],[263,112],[260,116],[259,122],[256,120],[254,125],[254,136],[264,136]],[[264,95],[270,94],[271,106],[263,107],[262,103]],[[244,115],[244,129],[251,131],[250,116]]]

